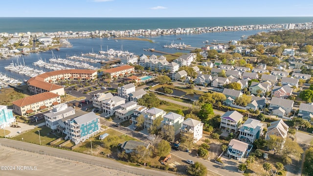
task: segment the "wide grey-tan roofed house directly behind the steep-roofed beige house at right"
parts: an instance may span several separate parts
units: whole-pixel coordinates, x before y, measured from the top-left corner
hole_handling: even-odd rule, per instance
[[[293,107],[293,100],[272,97],[269,105],[269,111],[277,116],[289,116]]]

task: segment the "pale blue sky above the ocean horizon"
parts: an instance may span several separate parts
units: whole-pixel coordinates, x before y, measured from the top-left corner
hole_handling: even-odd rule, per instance
[[[313,17],[312,0],[1,0],[0,17]]]

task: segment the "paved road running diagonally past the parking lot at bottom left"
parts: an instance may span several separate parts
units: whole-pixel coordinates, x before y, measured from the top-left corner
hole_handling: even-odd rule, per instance
[[[141,174],[141,175],[150,175],[150,176],[162,176],[162,175],[163,176],[164,175],[175,176],[174,174],[162,172],[160,170],[144,169],[140,167],[135,168],[135,167],[128,166],[128,165],[123,165],[115,160],[111,160],[107,158],[96,157],[96,156],[91,156],[88,154],[81,154],[77,152],[72,152],[72,151],[47,147],[47,146],[41,146],[41,145],[36,145],[36,144],[30,144],[30,143],[11,140],[7,138],[0,138],[0,144],[12,146],[13,148],[22,148],[23,150],[34,151],[34,153],[38,153],[38,154],[44,154],[44,155],[49,155],[49,156],[51,155],[51,156],[56,156],[58,158],[68,158],[70,160],[88,163],[90,165],[105,165],[107,167],[116,168],[117,170],[122,170],[122,171],[126,170],[128,172],[138,173],[137,175]],[[0,163],[1,163],[1,160],[0,160]],[[5,163],[2,163],[2,164],[5,164]],[[25,162],[25,164],[27,164],[27,161]],[[64,173],[64,175],[67,175],[67,174],[71,174],[71,173]]]

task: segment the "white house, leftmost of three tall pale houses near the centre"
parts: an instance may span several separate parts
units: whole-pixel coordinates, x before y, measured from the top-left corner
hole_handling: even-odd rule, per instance
[[[166,114],[164,110],[160,110],[158,108],[150,108],[144,114],[145,122],[144,128],[150,128],[156,118],[161,118],[163,120],[163,116]],[[161,126],[157,127],[160,128]]]

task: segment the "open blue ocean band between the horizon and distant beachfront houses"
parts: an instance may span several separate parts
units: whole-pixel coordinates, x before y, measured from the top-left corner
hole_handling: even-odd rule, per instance
[[[313,17],[199,17],[199,18],[0,18],[0,32],[57,32],[126,29],[169,29],[312,22]]]

